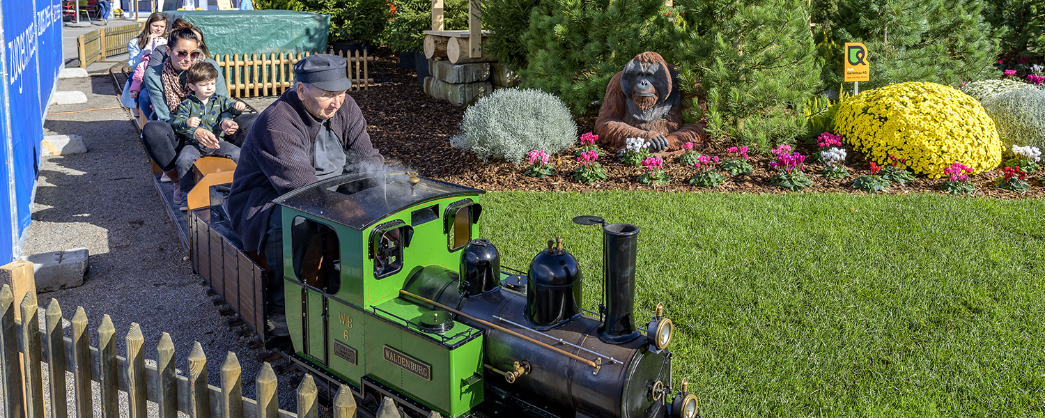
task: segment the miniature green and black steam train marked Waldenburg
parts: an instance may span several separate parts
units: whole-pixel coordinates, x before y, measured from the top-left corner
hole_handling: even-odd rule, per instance
[[[193,269],[275,341],[263,326],[263,257],[237,248],[228,184],[214,183],[196,187],[209,205],[190,205]],[[583,274],[562,238],[526,272],[502,268],[493,243],[472,236],[481,193],[381,172],[280,196],[284,355],[319,377],[321,393],[347,385],[364,408],[391,397],[415,417],[696,417],[696,396],[671,381],[671,320],[658,306],[643,332],[634,326],[638,228],[575,218],[603,228],[604,305],[587,311],[600,321],[581,308]]]

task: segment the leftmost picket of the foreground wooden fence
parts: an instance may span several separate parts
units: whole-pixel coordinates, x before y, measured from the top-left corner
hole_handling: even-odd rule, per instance
[[[0,287],[0,379],[3,380],[5,417],[22,416],[22,371],[19,370],[18,335],[15,330],[15,295],[10,285]]]

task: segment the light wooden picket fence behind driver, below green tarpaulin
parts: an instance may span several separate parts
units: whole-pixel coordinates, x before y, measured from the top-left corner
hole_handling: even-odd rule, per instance
[[[319,52],[280,52],[280,53],[238,53],[214,55],[218,70],[225,74],[225,83],[229,95],[234,97],[278,96],[294,87],[294,63],[305,56]],[[352,90],[369,90],[374,84],[370,77],[369,63],[374,61],[366,50],[352,51],[339,56],[348,62],[345,71],[352,82]]]

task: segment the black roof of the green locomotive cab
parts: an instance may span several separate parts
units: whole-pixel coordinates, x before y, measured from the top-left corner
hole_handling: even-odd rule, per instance
[[[419,203],[480,193],[485,191],[419,177],[416,172],[386,170],[338,176],[287,192],[273,202],[363,230]]]

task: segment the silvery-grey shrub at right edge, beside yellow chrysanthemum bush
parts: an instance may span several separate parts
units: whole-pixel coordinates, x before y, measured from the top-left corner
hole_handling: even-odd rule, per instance
[[[980,103],[998,126],[1003,150],[1013,145],[1045,148],[1045,91],[1013,89]]]

